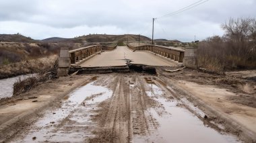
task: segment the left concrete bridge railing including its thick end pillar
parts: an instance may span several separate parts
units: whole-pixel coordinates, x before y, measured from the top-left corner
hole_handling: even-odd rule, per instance
[[[69,48],[61,48],[61,52],[59,55],[59,68],[58,68],[58,76],[65,76],[69,73],[69,68],[71,64],[75,64],[75,62],[79,62],[80,60],[84,60],[86,58],[90,58],[103,50],[114,50],[117,48],[115,46],[104,46],[104,45],[93,45],[83,48],[78,48],[75,50],[69,50]]]

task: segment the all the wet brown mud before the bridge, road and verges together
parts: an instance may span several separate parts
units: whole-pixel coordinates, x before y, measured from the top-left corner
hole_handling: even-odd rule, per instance
[[[255,95],[230,85],[251,81],[187,68],[175,73],[164,72],[171,68],[174,67],[155,68],[156,75],[142,71],[90,74],[47,83],[60,92],[74,86],[76,80],[87,79],[81,87],[30,117],[26,126],[17,126],[17,132],[4,141],[252,142]],[[63,83],[65,86],[58,87]],[[42,86],[46,89],[46,84]],[[24,97],[42,93],[36,90]],[[34,106],[43,101],[42,96],[38,96],[28,103],[34,100],[37,100]],[[12,102],[16,105],[5,102],[0,108],[1,119],[7,121],[11,117],[9,111],[19,102]],[[212,108],[207,108],[209,106]],[[7,114],[9,118],[2,116]],[[239,128],[230,122],[236,122]],[[245,136],[242,125],[252,134]]]

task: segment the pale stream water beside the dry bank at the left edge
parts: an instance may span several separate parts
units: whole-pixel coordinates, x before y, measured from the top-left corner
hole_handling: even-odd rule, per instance
[[[11,77],[7,79],[0,80],[0,99],[5,97],[11,97],[13,95],[13,83],[18,81],[19,79],[24,80],[28,77],[36,76],[35,74],[29,75],[20,75],[17,77]]]

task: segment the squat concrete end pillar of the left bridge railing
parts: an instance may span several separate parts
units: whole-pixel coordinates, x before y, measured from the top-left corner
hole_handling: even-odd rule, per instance
[[[71,61],[69,58],[69,48],[61,48],[61,52],[59,54],[58,77],[68,75],[70,62]]]

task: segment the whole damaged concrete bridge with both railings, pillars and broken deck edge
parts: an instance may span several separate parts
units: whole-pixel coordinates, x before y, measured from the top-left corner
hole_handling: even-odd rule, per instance
[[[197,68],[196,48],[174,48],[158,45],[103,46],[94,45],[75,50],[61,48],[59,76],[79,73],[129,72],[129,66],[186,66]]]

